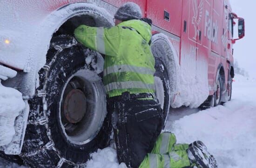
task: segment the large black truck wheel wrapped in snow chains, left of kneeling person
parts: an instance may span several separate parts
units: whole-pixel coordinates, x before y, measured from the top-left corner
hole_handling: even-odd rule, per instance
[[[104,86],[94,66],[96,55],[80,45],[48,50],[37,94],[29,101],[20,155],[26,164],[78,167],[87,162],[90,153],[108,145],[111,124]]]

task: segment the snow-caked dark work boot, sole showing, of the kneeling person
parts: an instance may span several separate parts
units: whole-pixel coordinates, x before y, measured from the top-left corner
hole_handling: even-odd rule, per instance
[[[195,141],[189,144],[187,149],[189,160],[195,163],[199,168],[217,168],[217,162],[201,141]]]

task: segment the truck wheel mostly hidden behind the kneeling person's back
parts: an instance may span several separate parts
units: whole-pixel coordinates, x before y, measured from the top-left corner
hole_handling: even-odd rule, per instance
[[[167,115],[170,107],[169,95],[169,78],[167,68],[159,57],[155,57],[155,92],[156,98],[161,104],[163,110],[163,117],[165,119],[164,125],[167,121]]]

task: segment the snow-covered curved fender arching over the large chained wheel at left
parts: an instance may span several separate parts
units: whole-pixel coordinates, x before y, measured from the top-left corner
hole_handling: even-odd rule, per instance
[[[47,50],[49,49],[49,44],[54,32],[57,31],[67,19],[78,15],[92,16],[97,20],[96,26],[113,25],[112,15],[104,8],[101,8],[101,6],[104,6],[104,8],[107,7],[108,9],[112,7],[101,0],[96,0],[94,4],[86,2],[69,4],[48,14],[39,26],[35,26],[31,32],[32,34],[28,34],[27,41],[22,42],[27,43],[26,46],[29,48],[29,50],[26,50],[26,53],[24,53],[27,57],[25,57],[26,64],[23,71],[19,71],[15,78],[9,79],[3,82],[3,84],[8,87],[17,88],[17,90],[22,93],[23,99],[25,100],[33,97],[38,79],[38,71],[46,62]],[[24,46],[23,44],[20,45]]]

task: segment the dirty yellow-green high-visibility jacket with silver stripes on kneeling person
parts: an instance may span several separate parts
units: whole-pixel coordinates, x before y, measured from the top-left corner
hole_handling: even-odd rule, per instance
[[[128,20],[113,27],[80,25],[74,35],[81,44],[105,56],[103,83],[109,97],[155,93],[155,59],[149,41],[151,26]]]

